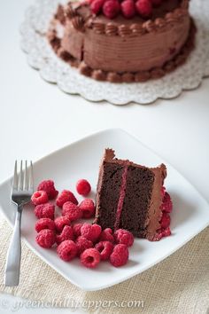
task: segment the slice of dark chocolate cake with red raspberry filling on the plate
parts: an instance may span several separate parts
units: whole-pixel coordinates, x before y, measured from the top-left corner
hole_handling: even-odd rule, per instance
[[[147,168],[118,160],[112,149],[106,149],[99,169],[95,223],[103,229],[123,228],[139,238],[159,239],[165,178],[164,164]]]

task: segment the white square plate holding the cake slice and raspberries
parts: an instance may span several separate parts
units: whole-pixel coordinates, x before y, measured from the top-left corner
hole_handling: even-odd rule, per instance
[[[146,166],[155,167],[161,162],[166,163],[166,189],[174,201],[171,214],[173,234],[159,242],[135,239],[134,246],[130,248],[129,261],[123,267],[114,268],[106,262],[100,263],[95,270],[89,270],[81,266],[79,259],[65,263],[58,258],[55,249],[39,247],[35,243],[35,215],[30,206],[25,208],[21,229],[28,247],[67,280],[89,291],[111,287],[149,269],[174,253],[209,224],[209,206],[197,190],[171,165],[124,130],[104,130],[35,162],[35,186],[41,180],[51,178],[55,180],[59,191],[68,188],[75,192],[76,181],[87,178],[93,188],[91,197],[94,197],[99,162],[104,148],[107,147],[113,148],[116,156],[121,159],[129,159]],[[11,178],[0,185],[0,208],[13,225],[15,207],[10,201],[11,185]]]

